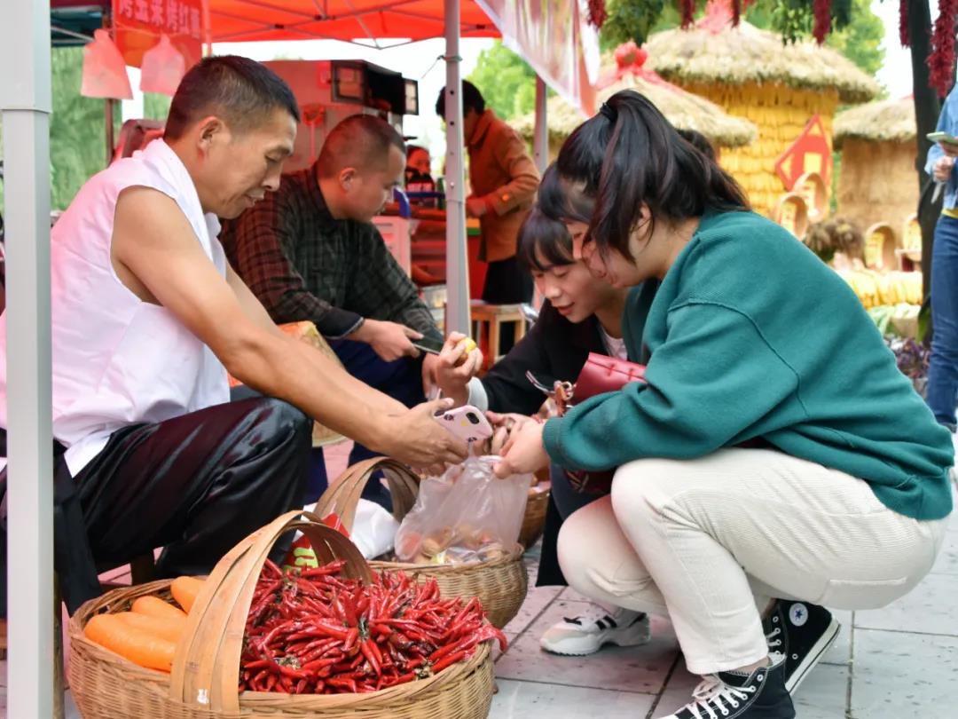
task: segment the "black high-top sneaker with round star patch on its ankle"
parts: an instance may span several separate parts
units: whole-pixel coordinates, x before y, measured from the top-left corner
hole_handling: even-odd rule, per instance
[[[785,657],[785,686],[794,694],[838,636],[839,624],[824,607],[778,599],[764,619],[768,651]]]

